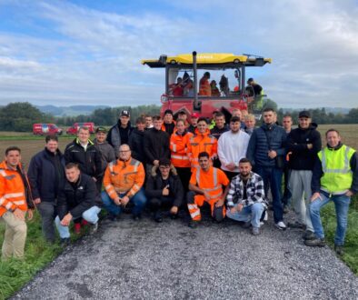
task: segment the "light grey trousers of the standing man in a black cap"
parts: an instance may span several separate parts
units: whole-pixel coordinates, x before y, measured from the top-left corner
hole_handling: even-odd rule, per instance
[[[293,211],[296,221],[306,225],[306,230],[313,232],[309,205],[311,203],[312,171],[291,170],[289,188],[292,191]]]

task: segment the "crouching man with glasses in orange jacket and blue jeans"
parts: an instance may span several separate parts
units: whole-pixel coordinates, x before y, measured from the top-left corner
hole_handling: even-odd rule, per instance
[[[122,207],[132,202],[134,208],[132,214],[134,220],[138,220],[144,205],[146,197],[144,189],[144,167],[141,162],[132,158],[129,145],[119,147],[119,159],[107,165],[104,172],[104,188],[101,198],[104,208],[109,213],[109,218],[115,220]]]

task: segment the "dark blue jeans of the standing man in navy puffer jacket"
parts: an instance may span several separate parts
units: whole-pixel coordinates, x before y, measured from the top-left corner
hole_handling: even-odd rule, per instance
[[[278,223],[283,221],[283,203],[282,199],[282,182],[283,170],[276,167],[255,166],[255,173],[260,175],[264,180],[264,195],[267,196],[268,188],[271,188],[273,195],[273,221]]]

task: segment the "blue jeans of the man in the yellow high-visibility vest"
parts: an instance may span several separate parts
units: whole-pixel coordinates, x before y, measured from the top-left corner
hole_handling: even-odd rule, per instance
[[[311,221],[314,234],[318,238],[324,238],[323,226],[321,222],[321,208],[333,201],[335,206],[335,215],[337,215],[337,229],[335,231],[334,244],[343,245],[345,232],[347,231],[348,209],[351,198],[347,195],[332,195],[331,197],[320,193],[322,200],[314,199],[310,204]]]

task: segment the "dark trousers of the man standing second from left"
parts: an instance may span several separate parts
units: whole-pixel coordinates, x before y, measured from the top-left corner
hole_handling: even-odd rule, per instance
[[[55,201],[41,202],[39,205],[37,205],[37,209],[41,215],[42,229],[45,239],[48,242],[55,242]]]

